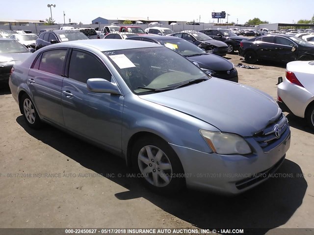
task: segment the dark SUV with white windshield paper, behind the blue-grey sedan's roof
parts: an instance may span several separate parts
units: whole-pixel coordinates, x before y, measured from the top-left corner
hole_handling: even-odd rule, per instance
[[[45,31],[39,35],[39,38],[36,39],[35,49],[38,50],[42,47],[67,42],[67,41],[75,41],[75,40],[84,40],[89,39],[85,34],[79,32],[75,29],[69,30],[53,30],[53,31]]]

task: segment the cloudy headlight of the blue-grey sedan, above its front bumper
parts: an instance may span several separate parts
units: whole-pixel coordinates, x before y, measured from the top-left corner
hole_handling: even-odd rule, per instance
[[[211,150],[218,154],[249,154],[252,150],[240,136],[231,133],[200,130]]]

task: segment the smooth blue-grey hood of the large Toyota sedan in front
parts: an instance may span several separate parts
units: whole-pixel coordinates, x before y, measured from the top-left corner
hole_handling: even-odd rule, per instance
[[[139,97],[242,137],[253,136],[281,115],[281,109],[269,95],[219,78]]]

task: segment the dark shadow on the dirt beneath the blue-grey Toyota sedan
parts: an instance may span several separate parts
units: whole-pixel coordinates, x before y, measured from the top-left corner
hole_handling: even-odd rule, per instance
[[[22,116],[16,121],[37,140],[126,188],[126,191],[116,193],[116,198],[129,200],[143,197],[163,211],[202,229],[260,228],[252,234],[265,234],[269,229],[288,221],[302,204],[307,189],[299,165],[286,159],[276,172],[277,177],[235,197],[194,190],[184,190],[173,197],[161,196],[144,188],[137,178],[127,177],[132,171],[123,159],[52,126],[45,125],[41,130],[33,130]],[[111,177],[108,177],[109,174]],[[115,177],[112,177],[113,174]],[[121,177],[117,177],[118,174]]]

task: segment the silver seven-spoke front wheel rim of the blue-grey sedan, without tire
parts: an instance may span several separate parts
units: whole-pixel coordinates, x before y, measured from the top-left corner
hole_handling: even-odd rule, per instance
[[[137,162],[143,177],[156,187],[165,187],[171,181],[172,166],[167,155],[153,145],[144,146]]]

